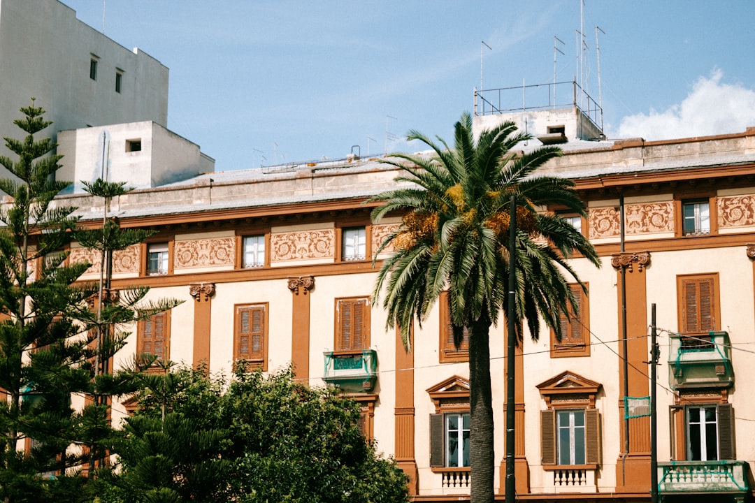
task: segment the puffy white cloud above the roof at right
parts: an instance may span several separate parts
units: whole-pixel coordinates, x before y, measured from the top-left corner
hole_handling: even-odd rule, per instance
[[[678,105],[663,112],[629,115],[612,137],[669,140],[691,136],[738,133],[755,126],[755,91],[741,84],[721,82],[723,72],[701,77]]]

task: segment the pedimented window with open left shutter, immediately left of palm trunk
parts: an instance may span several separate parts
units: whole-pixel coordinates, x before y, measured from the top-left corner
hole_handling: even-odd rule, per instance
[[[470,465],[470,413],[430,415],[430,466]]]

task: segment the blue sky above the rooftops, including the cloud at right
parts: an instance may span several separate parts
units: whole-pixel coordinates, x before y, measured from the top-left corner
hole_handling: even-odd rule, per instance
[[[168,128],[216,170],[416,151],[452,140],[485,89],[553,81],[577,65],[580,0],[63,0],[79,20],[170,69]],[[755,126],[755,2],[585,0],[584,86],[609,137]],[[482,46],[481,41],[491,49]],[[388,135],[386,133],[389,133]],[[355,149],[356,151],[356,149]]]

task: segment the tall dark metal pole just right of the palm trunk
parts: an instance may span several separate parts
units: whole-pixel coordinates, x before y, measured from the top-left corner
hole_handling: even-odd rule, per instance
[[[506,315],[506,503],[513,503],[516,497],[514,476],[514,409],[516,400],[514,387],[514,355],[516,348],[516,196],[510,199],[509,223],[509,303]]]

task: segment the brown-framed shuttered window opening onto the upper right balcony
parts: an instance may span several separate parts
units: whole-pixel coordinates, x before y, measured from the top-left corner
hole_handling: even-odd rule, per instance
[[[676,277],[679,331],[687,337],[682,346],[706,344],[709,332],[720,330],[718,274]]]

